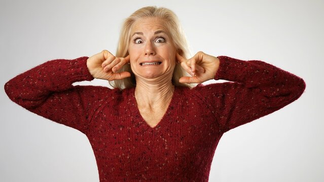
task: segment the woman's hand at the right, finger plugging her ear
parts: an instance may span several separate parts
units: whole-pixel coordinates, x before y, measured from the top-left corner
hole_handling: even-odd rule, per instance
[[[188,60],[176,53],[176,59],[192,75],[192,77],[181,77],[179,79],[181,83],[202,83],[213,79],[220,66],[220,60],[217,57],[207,55],[201,51]]]

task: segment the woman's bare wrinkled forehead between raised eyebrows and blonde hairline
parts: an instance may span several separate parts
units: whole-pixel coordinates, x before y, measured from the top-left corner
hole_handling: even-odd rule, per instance
[[[154,33],[156,30],[164,30],[168,33],[165,21],[158,17],[149,17],[149,18],[139,18],[137,19],[132,28],[131,35],[134,32],[143,32],[145,33]]]

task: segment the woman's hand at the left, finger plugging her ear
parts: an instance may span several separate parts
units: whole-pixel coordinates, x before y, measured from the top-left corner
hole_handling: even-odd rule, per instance
[[[103,50],[88,58],[87,67],[94,78],[112,81],[130,76],[130,73],[127,71],[117,73],[128,62],[129,55],[125,58],[118,58],[109,51]]]

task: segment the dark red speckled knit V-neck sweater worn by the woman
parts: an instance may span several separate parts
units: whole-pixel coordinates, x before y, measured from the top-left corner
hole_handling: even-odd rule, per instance
[[[302,78],[262,61],[219,56],[215,79],[228,82],[175,87],[152,128],[139,114],[134,88],[72,85],[94,79],[86,60],[57,59],[5,84],[27,110],[87,135],[100,181],[208,181],[224,132],[298,99]]]

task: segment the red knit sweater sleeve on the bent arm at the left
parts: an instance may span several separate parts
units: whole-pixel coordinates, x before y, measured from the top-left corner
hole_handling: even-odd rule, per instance
[[[88,57],[47,61],[5,84],[8,97],[23,108],[85,133],[98,105],[100,86],[72,85],[93,80]]]

